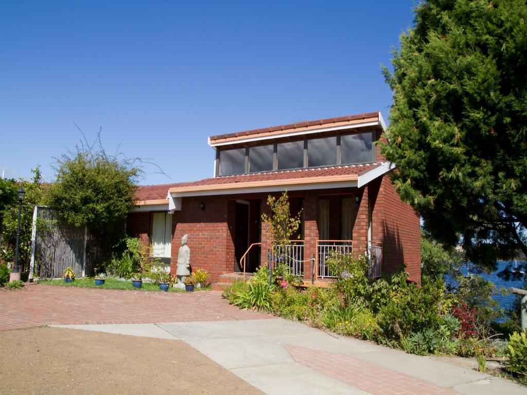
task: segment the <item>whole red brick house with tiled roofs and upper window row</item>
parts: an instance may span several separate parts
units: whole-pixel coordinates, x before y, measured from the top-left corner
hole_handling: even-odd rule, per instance
[[[332,277],[325,264],[331,250],[367,252],[371,276],[404,264],[419,282],[419,218],[388,179],[393,165],[375,144],[384,130],[374,112],[209,137],[214,176],[141,186],[127,232],[172,273],[188,233],[192,270],[229,282],[267,264],[272,246],[261,214],[270,214],[269,194],[287,189],[301,229],[282,262],[306,282]]]

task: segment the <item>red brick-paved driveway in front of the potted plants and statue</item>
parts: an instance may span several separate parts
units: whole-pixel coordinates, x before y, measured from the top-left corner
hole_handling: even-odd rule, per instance
[[[0,292],[0,331],[44,324],[106,324],[258,320],[272,318],[243,311],[221,292],[121,291],[34,284]]]

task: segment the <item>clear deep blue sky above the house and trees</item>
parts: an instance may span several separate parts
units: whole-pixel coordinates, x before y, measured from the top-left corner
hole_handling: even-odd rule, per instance
[[[141,184],[212,176],[207,137],[381,111],[415,1],[0,4],[0,174],[31,176],[102,126]]]

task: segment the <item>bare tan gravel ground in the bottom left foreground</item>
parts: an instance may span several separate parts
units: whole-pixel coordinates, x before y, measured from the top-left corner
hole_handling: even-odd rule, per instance
[[[2,394],[262,394],[188,344],[63,328],[0,332]]]

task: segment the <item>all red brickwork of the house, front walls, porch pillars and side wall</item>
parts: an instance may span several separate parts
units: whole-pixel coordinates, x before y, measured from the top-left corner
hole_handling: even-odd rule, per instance
[[[304,198],[304,240],[305,260],[316,255],[316,240],[319,238],[317,226],[317,205],[325,190],[291,191],[290,197]],[[375,180],[361,189],[335,189],[337,193],[353,194],[360,197],[360,203],[353,227],[353,249],[364,252],[367,248],[368,199],[373,207],[373,241],[384,243],[384,271],[390,272],[403,262],[411,274],[411,279],[420,278],[419,218],[413,209],[401,202],[388,178]],[[172,224],[171,271],[177,268],[178,250],[181,237],[188,233],[188,245],[191,250],[191,268],[206,269],[211,273],[211,281],[217,282],[223,273],[231,273],[235,268],[235,209],[236,199],[261,199],[261,212],[270,215],[267,206],[267,193],[246,195],[224,195],[184,197],[182,210],[175,211]],[[279,194],[276,194],[277,196]],[[324,196],[330,199],[331,235],[340,239],[340,196]],[[205,210],[200,209],[200,202]],[[267,264],[267,251],[271,243],[267,235],[268,224],[261,224],[261,264]],[[150,213],[130,213],[127,230],[130,235],[138,236],[148,245]],[[305,279],[311,279],[312,263],[304,263]]]

